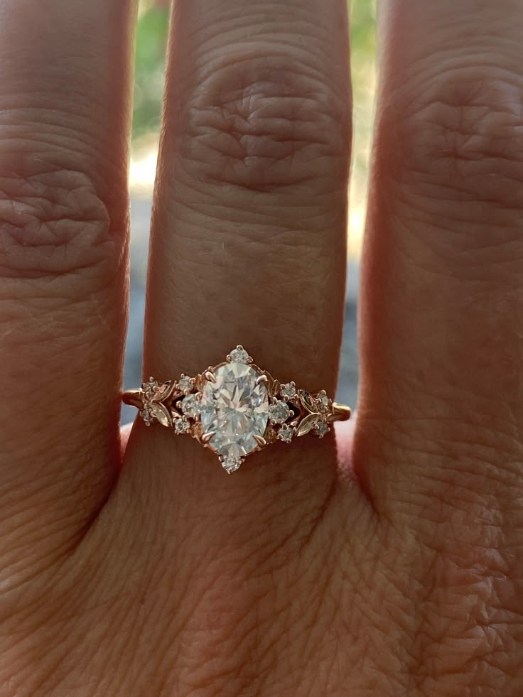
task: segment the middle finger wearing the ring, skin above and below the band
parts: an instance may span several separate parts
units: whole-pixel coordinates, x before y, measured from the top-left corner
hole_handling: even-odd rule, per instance
[[[178,2],[146,375],[193,375],[242,343],[281,382],[333,394],[345,283],[347,65],[344,0]],[[317,514],[336,474],[333,448],[312,436],[316,443],[301,438],[286,451],[271,445],[278,455],[252,455],[225,481],[216,455],[195,441],[144,428],[134,435],[133,460],[151,452],[153,438],[166,463],[135,472],[149,482],[140,488],[152,487],[168,507],[176,491],[191,514],[198,502],[230,516],[253,482],[261,507],[292,482],[293,500],[311,499]]]

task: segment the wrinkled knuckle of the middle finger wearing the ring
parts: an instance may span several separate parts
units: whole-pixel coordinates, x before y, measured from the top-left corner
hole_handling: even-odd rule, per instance
[[[339,189],[348,161],[349,104],[332,80],[303,67],[293,49],[262,47],[223,60],[195,80],[178,145],[191,175],[271,193],[291,187]],[[269,54],[269,55],[268,55]],[[239,59],[239,60],[238,60]],[[309,189],[310,190],[310,189]]]

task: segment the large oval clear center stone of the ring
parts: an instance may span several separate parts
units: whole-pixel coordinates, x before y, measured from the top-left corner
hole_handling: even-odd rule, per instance
[[[263,436],[269,418],[269,394],[259,373],[245,363],[226,363],[215,369],[216,382],[207,382],[200,402],[203,433],[214,431],[209,448],[218,455],[243,458]]]

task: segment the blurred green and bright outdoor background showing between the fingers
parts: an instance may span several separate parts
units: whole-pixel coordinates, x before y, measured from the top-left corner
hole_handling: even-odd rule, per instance
[[[141,382],[149,219],[163,96],[169,18],[168,0],[140,0],[136,41],[134,123],[129,183],[131,190],[131,313],[124,387]],[[358,267],[365,220],[370,129],[375,85],[375,0],[352,0],[350,6],[354,144],[348,233],[347,303],[338,399],[352,406],[357,393],[356,304]],[[134,418],[124,408],[123,421]]]

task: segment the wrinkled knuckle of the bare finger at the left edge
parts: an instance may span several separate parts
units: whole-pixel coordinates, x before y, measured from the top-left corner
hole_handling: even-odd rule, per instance
[[[109,207],[81,168],[0,160],[0,278],[89,276],[106,283],[122,260]],[[68,286],[69,287],[69,286]]]

